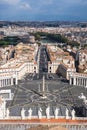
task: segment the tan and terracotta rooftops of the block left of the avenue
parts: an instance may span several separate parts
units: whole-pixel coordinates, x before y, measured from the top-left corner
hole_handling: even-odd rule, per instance
[[[18,68],[25,62],[35,62],[35,57],[38,51],[37,45],[29,45],[19,43],[15,47],[15,57],[9,59],[6,63],[0,66],[0,69],[4,68]]]

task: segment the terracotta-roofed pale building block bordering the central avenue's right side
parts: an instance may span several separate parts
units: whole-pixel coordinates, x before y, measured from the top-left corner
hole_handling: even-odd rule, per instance
[[[48,73],[57,73],[60,63],[63,61],[65,56],[68,56],[68,52],[64,52],[56,45],[47,46],[50,62],[48,62]]]

